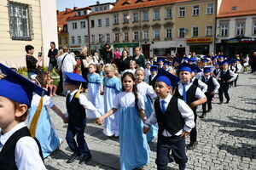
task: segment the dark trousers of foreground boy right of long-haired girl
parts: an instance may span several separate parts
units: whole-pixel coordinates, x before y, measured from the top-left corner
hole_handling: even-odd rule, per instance
[[[169,150],[172,150],[174,161],[179,166],[185,166],[188,157],[185,150],[185,139],[180,136],[165,137],[158,134],[156,160],[158,170],[166,170],[169,162]]]

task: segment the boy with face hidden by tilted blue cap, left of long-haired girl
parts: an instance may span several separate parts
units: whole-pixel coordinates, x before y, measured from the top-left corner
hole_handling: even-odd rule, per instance
[[[68,114],[66,140],[69,148],[73,151],[73,155],[70,156],[67,163],[75,161],[82,154],[79,164],[83,164],[91,159],[90,150],[84,140],[84,129],[86,127],[85,109],[94,113],[95,117],[101,115],[90,101],[88,101],[86,96],[80,94],[82,82],[85,82],[84,78],[72,72],[65,72],[65,74],[67,76],[65,79],[65,88],[67,91],[70,91],[67,94],[66,100]],[[74,140],[74,136],[77,136],[77,141]]]

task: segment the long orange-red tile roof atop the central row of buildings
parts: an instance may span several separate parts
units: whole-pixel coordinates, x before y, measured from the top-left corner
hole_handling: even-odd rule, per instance
[[[139,1],[142,1],[143,3],[137,3]],[[114,12],[114,11],[120,11],[120,10],[128,10],[131,8],[146,8],[146,7],[171,4],[171,3],[183,3],[188,1],[192,1],[192,0],[154,0],[154,1],[153,0],[151,1],[150,0],[119,0],[119,2],[115,4],[115,6],[111,9],[111,11]]]

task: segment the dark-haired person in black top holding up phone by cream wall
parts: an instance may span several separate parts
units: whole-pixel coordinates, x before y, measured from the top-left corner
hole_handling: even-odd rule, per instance
[[[42,61],[42,53],[38,53],[38,59],[36,59],[34,54],[34,47],[32,45],[26,45],[26,69],[27,76],[29,79],[33,79],[37,77],[40,73],[40,62]]]

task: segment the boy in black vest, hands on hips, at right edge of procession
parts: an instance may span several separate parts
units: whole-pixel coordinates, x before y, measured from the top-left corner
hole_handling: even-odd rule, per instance
[[[224,62],[222,63],[222,69],[218,72],[218,75],[216,77],[216,79],[220,82],[220,87],[218,90],[220,105],[223,104],[223,94],[227,99],[226,103],[230,103],[230,82],[236,79],[236,74],[233,71],[229,70],[229,64],[230,62],[228,60],[224,60]]]

